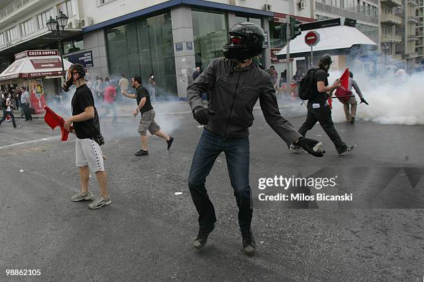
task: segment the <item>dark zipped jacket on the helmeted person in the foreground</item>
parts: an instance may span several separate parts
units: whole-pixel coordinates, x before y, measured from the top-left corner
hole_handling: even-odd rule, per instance
[[[256,64],[240,68],[224,57],[214,59],[187,88],[188,102],[194,111],[203,107],[202,93],[209,91],[209,109],[215,111],[205,128],[224,138],[249,135],[253,109],[260,102],[265,120],[290,145],[301,135],[280,114],[272,79]]]

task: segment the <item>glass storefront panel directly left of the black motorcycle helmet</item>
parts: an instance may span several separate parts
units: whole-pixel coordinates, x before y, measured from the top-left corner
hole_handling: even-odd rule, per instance
[[[192,11],[196,66],[204,69],[211,60],[222,57],[222,46],[228,43],[227,19],[224,13]]]

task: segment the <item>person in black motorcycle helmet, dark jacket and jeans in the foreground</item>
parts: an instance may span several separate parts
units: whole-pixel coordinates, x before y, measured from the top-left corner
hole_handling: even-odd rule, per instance
[[[206,192],[205,181],[218,155],[223,151],[231,186],[238,206],[238,223],[245,254],[255,251],[251,232],[253,214],[249,187],[249,127],[253,108],[259,99],[265,120],[286,144],[292,142],[314,156],[322,152],[312,148],[317,140],[304,138],[280,115],[272,79],[252,58],[263,50],[265,34],[254,23],[238,23],[229,31],[230,43],[224,56],[214,59],[206,70],[187,88],[188,101],[195,120],[204,131],[193,156],[188,187],[199,213],[199,234],[193,243],[199,249],[206,244],[216,222],[213,204]],[[204,108],[202,93],[209,91],[209,106]]]

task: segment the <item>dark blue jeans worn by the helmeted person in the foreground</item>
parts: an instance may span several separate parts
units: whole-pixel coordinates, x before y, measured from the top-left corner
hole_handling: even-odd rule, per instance
[[[249,186],[249,138],[222,138],[204,129],[193,156],[188,188],[199,214],[200,226],[216,222],[215,209],[204,186],[218,155],[224,152],[231,186],[238,206],[238,223],[241,231],[250,229],[253,205]]]

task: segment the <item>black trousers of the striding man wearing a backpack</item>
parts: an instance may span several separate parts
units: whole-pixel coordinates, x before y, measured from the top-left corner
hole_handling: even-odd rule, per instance
[[[334,127],[333,120],[331,119],[330,106],[320,105],[319,108],[313,109],[312,103],[308,103],[308,115],[306,116],[306,121],[303,122],[299,129],[299,133],[305,136],[306,132],[312,129],[317,122],[321,124],[322,129],[327,133],[330,140],[333,141],[337,153],[343,153],[346,149],[346,144],[344,144]]]

